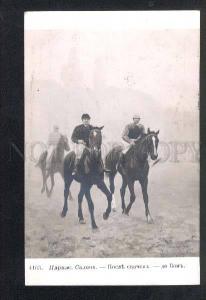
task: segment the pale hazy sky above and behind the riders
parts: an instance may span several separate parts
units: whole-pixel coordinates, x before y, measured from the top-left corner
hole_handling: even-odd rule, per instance
[[[54,123],[70,135],[83,112],[95,123],[114,124],[115,137],[133,112],[164,134],[173,126],[163,115],[170,108],[183,119],[190,112],[185,131],[198,123],[199,29],[133,27],[25,31],[30,138],[45,138]]]

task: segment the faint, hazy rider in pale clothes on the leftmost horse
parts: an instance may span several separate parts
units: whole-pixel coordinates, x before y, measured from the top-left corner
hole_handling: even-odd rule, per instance
[[[59,127],[54,125],[53,131],[49,134],[47,143],[46,169],[51,167],[52,153],[54,150],[56,150],[60,137],[61,134],[59,133]]]

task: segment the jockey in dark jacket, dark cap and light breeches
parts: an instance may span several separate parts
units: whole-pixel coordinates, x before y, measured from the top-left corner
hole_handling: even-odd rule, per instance
[[[72,142],[75,144],[74,151],[76,154],[75,169],[72,175],[75,175],[77,173],[78,165],[85,147],[89,147],[89,134],[90,131],[93,129],[93,126],[90,125],[91,118],[88,114],[83,114],[81,119],[82,124],[74,128],[71,137]]]

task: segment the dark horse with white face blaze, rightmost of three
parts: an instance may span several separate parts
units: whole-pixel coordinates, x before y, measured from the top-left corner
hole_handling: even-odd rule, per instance
[[[149,163],[148,157],[152,160],[158,158],[157,148],[159,143],[158,138],[159,130],[157,132],[150,131],[148,128],[145,133],[124,155],[123,161],[120,159],[122,155],[123,147],[116,146],[106,155],[105,166],[110,170],[107,175],[109,176],[109,185],[112,195],[114,194],[114,178],[117,172],[122,176],[122,186],[120,189],[121,201],[122,201],[122,213],[129,215],[129,211],[134,203],[136,196],[134,192],[134,183],[139,181],[142,189],[143,200],[145,204],[145,215],[147,222],[154,222],[149,211],[149,199],[147,193],[148,187],[148,174]],[[122,161],[122,162],[121,162]],[[125,205],[125,191],[129,188],[130,202]],[[150,216],[150,221],[149,221]]]

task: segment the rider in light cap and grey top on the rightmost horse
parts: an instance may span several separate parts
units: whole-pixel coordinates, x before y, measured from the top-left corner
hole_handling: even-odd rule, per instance
[[[126,147],[122,151],[120,162],[124,162],[124,156],[128,152],[128,150],[135,145],[135,142],[138,141],[143,134],[145,134],[145,128],[140,122],[140,115],[134,114],[133,115],[133,122],[128,124],[123,131],[122,139],[126,142]]]

